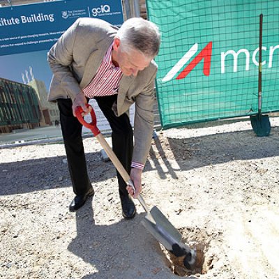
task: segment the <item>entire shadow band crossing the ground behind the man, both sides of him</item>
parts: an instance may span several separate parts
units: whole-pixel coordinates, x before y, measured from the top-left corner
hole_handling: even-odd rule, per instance
[[[175,179],[176,171],[232,160],[279,156],[278,135],[279,128],[275,127],[269,137],[256,137],[252,130],[190,138],[158,137],[151,145],[145,172],[156,170],[161,179],[165,179],[167,174]],[[70,186],[64,158],[66,157],[56,156],[0,164],[0,195]],[[86,153],[86,160],[91,182],[98,183],[116,175],[112,163],[103,162],[100,152]],[[173,161],[176,161],[177,167],[172,166]]]

